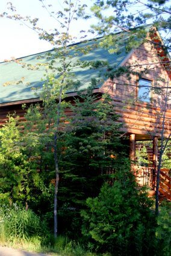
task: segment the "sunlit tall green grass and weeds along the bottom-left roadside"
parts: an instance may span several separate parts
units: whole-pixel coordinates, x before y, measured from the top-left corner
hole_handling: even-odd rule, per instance
[[[46,223],[31,210],[14,204],[0,208],[0,244],[25,251],[55,252],[58,256],[95,256],[81,243],[49,233]],[[98,254],[99,255],[99,254]],[[108,254],[104,254],[108,256]]]

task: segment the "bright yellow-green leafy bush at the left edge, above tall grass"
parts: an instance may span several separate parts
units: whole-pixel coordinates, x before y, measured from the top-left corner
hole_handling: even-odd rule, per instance
[[[1,202],[27,204],[31,190],[39,190],[35,183],[36,163],[31,162],[23,151],[22,133],[17,126],[17,118],[8,116],[8,121],[0,131],[0,193]]]

